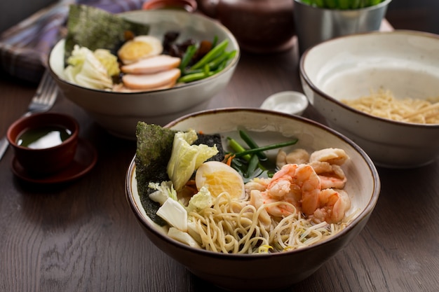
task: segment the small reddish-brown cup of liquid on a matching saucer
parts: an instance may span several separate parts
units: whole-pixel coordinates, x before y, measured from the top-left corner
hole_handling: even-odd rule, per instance
[[[69,134],[58,145],[30,148],[20,145],[24,133],[41,129],[64,129]],[[56,131],[51,131],[56,134]],[[78,144],[79,125],[74,118],[61,113],[35,113],[15,121],[9,128],[7,138],[15,151],[15,158],[27,172],[53,174],[65,169],[72,162]],[[46,137],[47,137],[46,133]],[[32,138],[33,139],[33,138]],[[39,139],[41,141],[41,139]],[[50,144],[52,145],[52,144]]]

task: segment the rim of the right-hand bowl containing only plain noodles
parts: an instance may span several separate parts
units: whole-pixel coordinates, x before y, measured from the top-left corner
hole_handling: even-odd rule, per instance
[[[359,111],[358,109],[354,109],[351,106],[348,106],[342,102],[339,102],[339,100],[335,99],[334,97],[331,97],[330,95],[327,95],[327,93],[323,92],[323,90],[320,90],[317,85],[315,85],[312,81],[309,75],[305,71],[305,63],[306,63],[306,57],[309,56],[311,53],[311,50],[315,48],[320,48],[321,46],[325,46],[327,43],[334,43],[338,41],[342,41],[343,39],[355,39],[361,36],[370,36],[370,35],[376,35],[380,38],[386,39],[389,35],[413,35],[413,36],[419,36],[422,38],[428,38],[428,39],[435,39],[439,41],[439,35],[433,34],[430,32],[419,32],[414,31],[410,29],[396,29],[391,32],[362,32],[362,33],[356,33],[356,34],[349,34],[346,36],[337,36],[334,39],[329,39],[327,41],[323,41],[321,43],[318,43],[315,46],[312,46],[311,48],[308,48],[305,50],[305,52],[302,54],[302,57],[300,57],[299,60],[299,74],[302,77],[302,80],[311,88],[313,92],[317,92],[318,95],[323,97],[323,99],[326,99],[327,102],[332,102],[333,104],[337,104],[337,106],[342,107],[346,111],[350,111],[351,113],[356,113],[357,115],[364,116],[366,118],[370,118],[372,120],[378,120],[382,123],[386,123],[389,125],[398,125],[398,126],[404,126],[404,127],[413,127],[413,128],[432,128],[432,129],[439,129],[439,124],[420,124],[420,123],[405,123],[400,122],[398,120],[390,120],[387,118],[381,118],[379,116],[373,116],[370,113],[365,113],[363,111]],[[311,101],[310,101],[311,103]]]

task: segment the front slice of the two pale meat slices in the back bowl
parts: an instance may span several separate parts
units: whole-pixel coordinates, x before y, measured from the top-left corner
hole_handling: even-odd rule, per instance
[[[175,83],[179,77],[180,69],[169,69],[154,74],[125,74],[122,81],[126,88],[154,90]]]

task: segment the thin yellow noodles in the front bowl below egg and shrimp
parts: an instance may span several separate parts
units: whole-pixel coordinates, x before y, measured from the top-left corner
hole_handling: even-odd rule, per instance
[[[245,200],[233,200],[228,193],[215,198],[212,207],[200,213],[191,212],[202,247],[222,253],[266,253],[299,249],[323,241],[346,228],[350,218],[342,223],[313,223],[290,204],[292,214],[284,218],[271,217],[270,224],[259,220],[261,212],[273,202],[256,209]]]

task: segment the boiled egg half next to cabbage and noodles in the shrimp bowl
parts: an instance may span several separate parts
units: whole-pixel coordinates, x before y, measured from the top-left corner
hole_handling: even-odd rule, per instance
[[[212,197],[224,192],[229,193],[234,199],[245,197],[243,177],[223,162],[204,162],[196,171],[195,183],[198,190],[203,186],[208,188]]]

